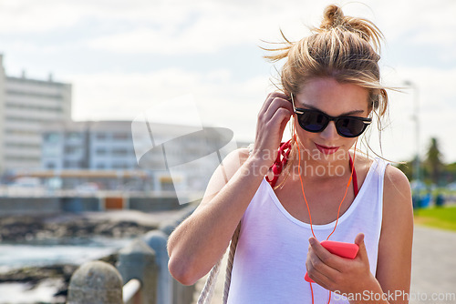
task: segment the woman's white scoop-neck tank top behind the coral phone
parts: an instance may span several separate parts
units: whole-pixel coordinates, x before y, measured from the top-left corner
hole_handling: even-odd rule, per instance
[[[382,221],[383,179],[387,163],[376,158],[347,211],[339,218],[331,240],[353,243],[365,234],[370,271],[376,273]],[[263,179],[242,218],[229,304],[312,303],[306,274],[310,225],[291,216]],[[336,221],[313,225],[316,238],[324,240]],[[329,291],[312,284],[315,303],[327,303]],[[348,303],[332,293],[331,303]]]

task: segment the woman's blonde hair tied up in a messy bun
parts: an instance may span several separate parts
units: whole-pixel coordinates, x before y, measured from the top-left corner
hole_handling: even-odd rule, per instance
[[[381,131],[380,117],[387,113],[388,94],[386,87],[380,85],[378,61],[383,35],[376,25],[364,18],[344,15],[337,5],[328,5],[321,25],[311,28],[312,35],[291,42],[280,32],[285,39],[283,46],[264,48],[275,52],[264,58],[272,62],[286,59],[280,82],[287,96],[297,95],[316,77],[332,77],[341,83],[365,87],[369,93],[368,109],[378,117]],[[292,138],[292,147],[294,141]],[[296,153],[293,150],[291,159]]]

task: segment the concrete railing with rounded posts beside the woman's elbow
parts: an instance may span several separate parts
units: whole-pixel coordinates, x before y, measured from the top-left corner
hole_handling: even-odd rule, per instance
[[[102,261],[83,264],[70,279],[67,304],[191,304],[194,286],[172,279],[166,244],[193,210],[185,208],[178,220],[165,222],[120,249],[117,268]]]

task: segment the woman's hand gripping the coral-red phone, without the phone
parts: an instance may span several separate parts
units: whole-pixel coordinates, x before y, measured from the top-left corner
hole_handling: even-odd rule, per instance
[[[358,255],[354,259],[341,258],[326,250],[316,238],[309,238],[306,259],[307,274],[318,285],[339,294],[360,294],[365,290],[376,291],[377,279],[370,273],[364,234],[355,238]]]

